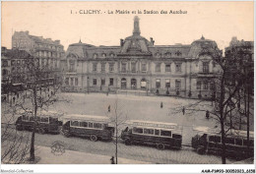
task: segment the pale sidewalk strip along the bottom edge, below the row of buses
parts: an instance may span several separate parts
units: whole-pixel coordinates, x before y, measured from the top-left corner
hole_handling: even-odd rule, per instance
[[[93,154],[81,151],[66,150],[63,154],[56,155],[50,147],[36,146],[35,156],[40,160],[37,164],[110,164],[111,156]],[[132,160],[118,157],[118,164],[151,164],[150,162]]]

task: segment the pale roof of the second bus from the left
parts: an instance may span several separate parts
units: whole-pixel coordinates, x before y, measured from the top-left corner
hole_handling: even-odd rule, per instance
[[[96,115],[80,115],[80,114],[69,114],[62,117],[65,120],[83,120],[83,121],[99,121],[99,122],[110,122],[110,118],[107,116],[96,116]]]

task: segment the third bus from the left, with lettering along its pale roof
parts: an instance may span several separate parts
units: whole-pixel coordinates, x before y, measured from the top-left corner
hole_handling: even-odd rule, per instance
[[[159,149],[181,148],[182,129],[175,123],[130,120],[126,124],[127,127],[121,133],[125,145],[154,145]]]

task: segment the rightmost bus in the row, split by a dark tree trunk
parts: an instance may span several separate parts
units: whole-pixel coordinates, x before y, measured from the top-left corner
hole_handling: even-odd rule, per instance
[[[220,130],[213,130],[207,127],[194,127],[198,134],[192,138],[192,147],[198,153],[222,153],[222,137]],[[253,156],[254,133],[250,132],[250,140],[247,142],[247,132],[241,130],[229,130],[225,138],[225,153],[228,157],[241,159]],[[248,147],[249,144],[249,147]]]

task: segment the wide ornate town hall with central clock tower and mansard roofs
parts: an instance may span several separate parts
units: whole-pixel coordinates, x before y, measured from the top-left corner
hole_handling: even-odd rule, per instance
[[[65,91],[129,91],[151,94],[211,96],[212,79],[220,72],[211,52],[220,51],[213,40],[190,45],[155,45],[141,36],[139,18],[133,34],[119,46],[70,44],[61,60]]]

